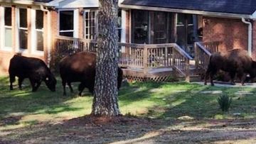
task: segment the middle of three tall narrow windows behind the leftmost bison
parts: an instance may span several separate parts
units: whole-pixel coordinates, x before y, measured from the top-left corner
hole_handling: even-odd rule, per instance
[[[27,10],[19,9],[18,40],[19,48],[28,49],[28,23]]]

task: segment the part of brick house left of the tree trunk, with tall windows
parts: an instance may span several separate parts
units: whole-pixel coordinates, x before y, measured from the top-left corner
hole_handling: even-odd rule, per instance
[[[94,0],[0,1],[0,71],[16,53],[48,63],[58,35],[92,39],[97,7]]]

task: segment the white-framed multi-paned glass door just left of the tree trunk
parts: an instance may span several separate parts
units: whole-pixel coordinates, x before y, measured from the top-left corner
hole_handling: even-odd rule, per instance
[[[91,19],[85,19],[86,18],[86,16],[85,16],[85,14],[86,13],[91,13],[91,12],[95,12],[95,18],[91,18]],[[87,39],[87,40],[95,40],[96,39],[96,35],[97,35],[97,33],[98,33],[98,27],[97,27],[97,23],[98,23],[98,20],[97,20],[97,13],[99,12],[99,10],[98,9],[85,9],[84,10],[84,14],[83,14],[83,23],[84,23],[84,38],[85,39]],[[86,23],[85,23],[85,21],[92,21],[92,20],[95,20],[95,38],[91,38],[92,37],[92,35],[90,35],[90,29],[92,28],[91,26],[90,26],[90,23],[88,23],[88,26],[86,25]],[[88,28],[88,31],[87,31],[87,33],[86,33],[86,29]],[[86,37],[88,37],[88,38],[86,38]]]

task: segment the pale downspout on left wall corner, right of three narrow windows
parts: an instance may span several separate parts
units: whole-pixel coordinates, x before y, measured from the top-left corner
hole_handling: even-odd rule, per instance
[[[47,65],[50,67],[50,50],[51,50],[51,27],[50,27],[50,11],[45,9],[43,5],[40,5],[41,11],[47,12]]]

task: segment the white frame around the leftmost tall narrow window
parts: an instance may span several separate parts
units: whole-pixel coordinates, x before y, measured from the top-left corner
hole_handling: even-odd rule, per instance
[[[1,50],[5,50],[5,51],[12,51],[13,48],[12,47],[6,47],[5,46],[5,31],[6,31],[6,28],[13,28],[13,26],[5,26],[5,21],[4,21],[4,14],[5,14],[5,8],[11,8],[11,6],[1,6],[0,7],[0,13],[1,13],[1,19],[0,19],[0,31],[1,31],[1,45],[0,45],[0,49]],[[12,13],[11,13],[12,14]],[[13,19],[11,19],[11,21],[14,21]],[[13,39],[13,38],[12,38]]]

